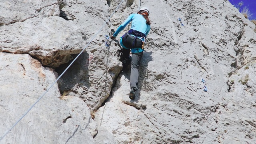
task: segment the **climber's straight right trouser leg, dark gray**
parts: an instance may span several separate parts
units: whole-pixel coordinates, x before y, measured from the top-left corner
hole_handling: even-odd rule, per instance
[[[138,89],[138,77],[139,77],[139,66],[140,60],[143,56],[143,52],[132,54],[132,64],[131,64],[131,76],[130,76],[130,86],[131,88]]]

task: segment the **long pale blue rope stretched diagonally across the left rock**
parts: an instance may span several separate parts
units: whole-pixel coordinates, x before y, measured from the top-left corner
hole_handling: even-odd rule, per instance
[[[103,24],[103,26],[100,28],[100,30],[98,30],[98,32],[94,35],[94,37],[92,38],[92,40],[98,35],[98,33],[102,30],[102,28],[106,25],[106,23],[108,22],[108,20],[113,16],[113,14],[118,10],[119,6],[122,4],[124,0],[122,0],[120,2],[120,4],[116,7],[116,9],[114,10],[114,12],[108,17],[108,19],[105,21],[105,23]],[[20,120],[22,120],[22,118],[24,118],[24,116],[26,116],[26,114],[28,114],[28,112],[43,98],[43,96],[50,90],[50,88],[52,88],[52,86],[62,77],[62,75],[68,70],[68,68],[70,68],[70,66],[75,62],[75,60],[82,54],[82,52],[84,52],[84,50],[89,46],[89,44],[92,42],[92,40],[90,40],[90,42],[84,47],[84,49],[78,54],[78,56],[76,56],[76,58],[70,63],[70,65],[64,70],[64,72],[62,72],[62,74],[60,74],[60,76],[50,85],[49,88],[47,88],[46,92],[44,92],[44,94],[42,94],[38,100],[26,111],[25,114],[22,115],[22,117],[20,119],[18,119],[15,124],[6,131],[6,133],[0,138],[0,140],[2,140],[6,134],[8,134],[12,128],[14,128],[14,126],[16,126],[18,124],[18,122],[20,122]]]

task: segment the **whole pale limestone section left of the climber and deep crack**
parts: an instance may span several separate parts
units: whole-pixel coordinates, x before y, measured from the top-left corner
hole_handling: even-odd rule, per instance
[[[65,64],[90,42],[109,13],[105,0],[13,0],[0,3],[3,11],[0,14],[2,136],[56,80],[60,75],[58,72],[66,68]],[[77,69],[68,71],[63,76],[64,80],[59,80],[59,84],[55,84],[0,143],[95,142],[93,137],[98,132],[98,126],[91,112],[109,96],[114,78],[121,69],[118,51],[108,50],[102,45],[104,34],[110,32],[109,26],[108,23],[82,54],[84,61],[75,66],[81,68],[81,74],[77,74],[80,72]],[[90,61],[94,59],[95,63],[91,66],[92,62],[87,62],[92,53],[95,56],[90,56]],[[116,56],[108,57],[108,54]],[[104,75],[108,70],[111,75]],[[74,79],[69,72],[76,74]],[[90,80],[86,79],[88,74]],[[63,81],[67,88],[63,86]],[[84,103],[84,99],[80,99],[83,95],[78,92],[76,97],[72,94],[68,96],[66,90],[76,90],[72,84],[78,84],[77,89],[88,86],[89,94],[97,99]],[[99,86],[106,87],[106,90]]]

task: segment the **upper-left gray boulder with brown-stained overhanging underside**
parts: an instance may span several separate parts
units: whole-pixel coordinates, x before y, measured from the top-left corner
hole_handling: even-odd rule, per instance
[[[54,68],[73,59],[72,54],[81,52],[108,11],[102,0],[96,5],[91,0],[69,0],[60,10],[63,3],[0,2],[4,11],[0,16],[0,52],[30,54]],[[97,9],[100,11],[94,14]]]

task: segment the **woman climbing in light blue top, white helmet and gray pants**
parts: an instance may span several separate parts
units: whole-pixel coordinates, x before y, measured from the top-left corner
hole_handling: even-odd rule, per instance
[[[122,23],[116,32],[110,37],[115,39],[119,32],[121,32],[127,24],[132,22],[131,29],[124,34],[120,40],[120,45],[122,48],[122,63],[123,68],[128,66],[130,62],[130,49],[132,52],[132,64],[131,64],[131,75],[130,75],[130,96],[131,100],[135,98],[135,91],[138,90],[138,76],[139,76],[139,66],[140,60],[144,51],[144,42],[146,41],[146,36],[150,31],[150,20],[148,18],[149,10],[148,8],[140,8],[136,14],[130,14],[128,18]]]

